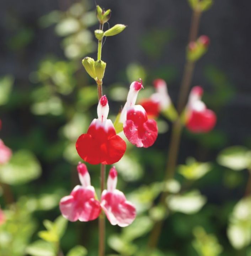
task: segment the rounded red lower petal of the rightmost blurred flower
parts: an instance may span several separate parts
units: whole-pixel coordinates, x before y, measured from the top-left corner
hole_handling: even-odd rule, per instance
[[[209,132],[214,128],[216,119],[217,117],[212,110],[192,111],[186,127],[194,133]]]

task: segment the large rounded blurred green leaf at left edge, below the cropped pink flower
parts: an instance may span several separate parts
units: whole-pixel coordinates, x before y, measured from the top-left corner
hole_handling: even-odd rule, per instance
[[[41,166],[36,157],[27,150],[17,151],[10,161],[0,166],[0,180],[10,185],[27,183],[41,175]]]

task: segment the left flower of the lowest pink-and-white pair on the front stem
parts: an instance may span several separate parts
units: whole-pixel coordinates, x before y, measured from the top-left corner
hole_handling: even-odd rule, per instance
[[[75,222],[87,222],[96,219],[101,212],[100,203],[95,199],[95,189],[91,186],[90,175],[85,164],[79,162],[77,167],[81,186],[76,186],[69,196],[60,200],[59,208],[62,215]]]

